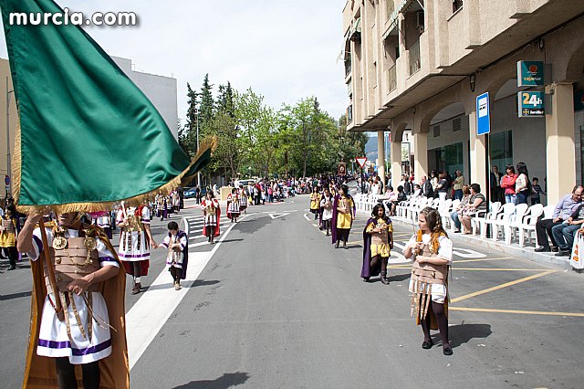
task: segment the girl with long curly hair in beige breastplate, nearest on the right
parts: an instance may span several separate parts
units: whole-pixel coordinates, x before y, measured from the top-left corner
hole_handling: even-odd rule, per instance
[[[430,349],[433,340],[430,330],[440,330],[444,355],[452,355],[448,342],[448,268],[453,261],[453,242],[442,226],[438,211],[426,207],[418,216],[420,230],[410,239],[403,251],[412,258],[412,314],[422,324],[422,349]]]

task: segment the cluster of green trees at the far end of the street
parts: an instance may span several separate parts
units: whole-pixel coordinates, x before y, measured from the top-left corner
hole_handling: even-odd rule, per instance
[[[320,110],[316,97],[284,104],[278,111],[264,103],[264,96],[231,83],[220,85],[217,100],[208,75],[200,93],[187,84],[187,123],[179,126],[180,142],[196,152],[196,121],[201,137],[215,135],[217,151],[207,173],[224,174],[227,180],[248,176],[309,176],[335,173],[339,162],[363,155],[368,136],[347,131],[345,116],[335,121]],[[194,133],[194,142],[193,142]]]

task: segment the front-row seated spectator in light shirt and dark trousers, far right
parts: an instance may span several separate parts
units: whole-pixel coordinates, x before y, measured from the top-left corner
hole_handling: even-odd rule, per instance
[[[564,220],[568,220],[576,208],[580,205],[582,201],[582,185],[574,186],[572,193],[570,195],[565,195],[561,200],[559,200],[558,205],[554,209],[554,215],[551,219],[539,219],[536,223],[536,233],[537,233],[537,252],[546,251],[558,251],[558,242],[553,235],[552,229],[554,226],[561,225]],[[547,236],[551,239],[553,247],[549,247],[547,243]]]

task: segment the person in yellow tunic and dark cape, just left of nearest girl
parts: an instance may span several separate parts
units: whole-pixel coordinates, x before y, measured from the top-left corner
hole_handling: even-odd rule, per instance
[[[363,267],[361,278],[369,282],[371,276],[381,273],[381,283],[388,285],[387,262],[393,248],[393,225],[385,215],[385,206],[373,207],[371,217],[363,230]]]

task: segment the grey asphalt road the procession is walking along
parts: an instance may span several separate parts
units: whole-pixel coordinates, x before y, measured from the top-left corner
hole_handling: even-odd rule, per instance
[[[418,388],[430,376],[461,388],[581,387],[583,276],[455,243],[446,357],[421,348],[401,249],[389,286],[362,282],[367,216],[349,249],[335,249],[308,201],[252,206],[240,223],[225,222],[214,247],[195,230],[194,282],[181,291],[155,251],[143,282],[151,289],[127,295],[132,387]],[[188,215],[200,224],[198,210]],[[159,241],[164,224],[153,225]],[[398,245],[412,236],[411,226],[395,229]],[[29,290],[26,268],[0,275],[3,387],[20,384]]]

